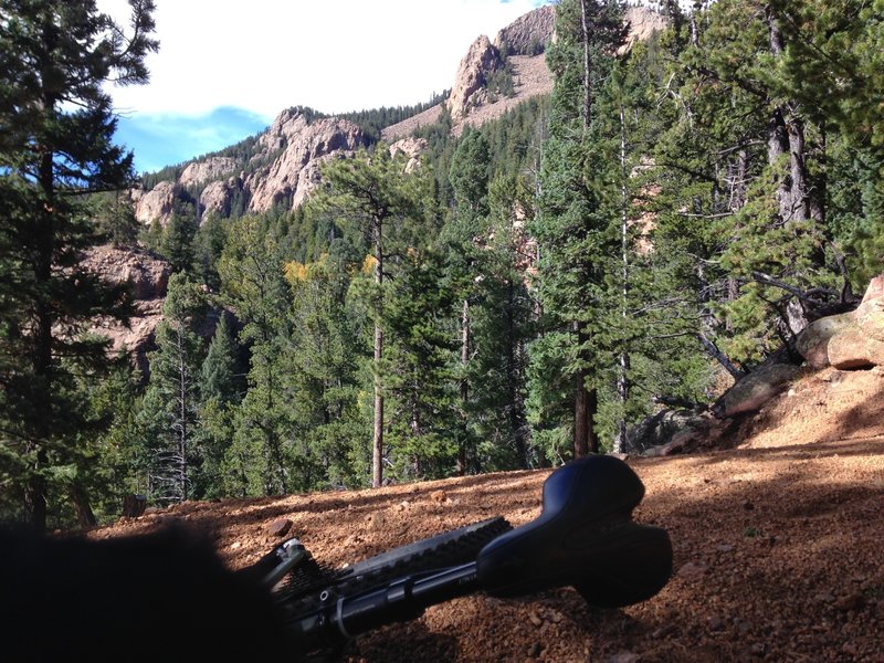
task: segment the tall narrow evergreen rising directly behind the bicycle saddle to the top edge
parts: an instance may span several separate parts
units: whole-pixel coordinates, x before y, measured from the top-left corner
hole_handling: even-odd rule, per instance
[[[617,249],[611,244],[613,220],[604,209],[603,175],[610,159],[597,143],[594,106],[625,39],[623,11],[623,4],[612,0],[561,2],[556,11],[558,40],[547,52],[556,82],[544,147],[540,214],[533,230],[539,245],[538,293],[547,325],[545,338],[534,344],[538,367],[534,375],[540,378],[535,388],[548,396],[538,392],[535,403],[560,402],[561,385],[571,383],[570,421],[541,425],[559,442],[561,429],[570,428],[570,453],[577,456],[599,451],[594,373],[601,356],[596,333],[607,306],[606,261]]]

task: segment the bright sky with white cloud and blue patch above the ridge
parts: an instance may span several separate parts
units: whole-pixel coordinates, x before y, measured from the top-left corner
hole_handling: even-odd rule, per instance
[[[127,23],[126,0],[98,0]],[[110,87],[139,172],[238,143],[290,106],[413,105],[452,86],[481,34],[549,0],[156,0],[150,83]]]

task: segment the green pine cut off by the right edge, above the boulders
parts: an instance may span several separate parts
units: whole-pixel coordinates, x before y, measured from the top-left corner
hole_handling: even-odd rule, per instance
[[[851,285],[884,269],[884,2],[771,2],[783,49],[765,81],[824,133],[823,193]]]

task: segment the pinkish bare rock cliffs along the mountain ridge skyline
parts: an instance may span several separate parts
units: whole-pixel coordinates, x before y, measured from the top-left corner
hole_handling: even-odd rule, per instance
[[[486,35],[476,38],[460,62],[448,98],[385,127],[381,139],[402,149],[393,144],[435,124],[443,112],[451,116],[451,134],[456,137],[465,126],[481,126],[529,98],[549,94],[552,76],[544,52],[554,39],[554,9],[546,6],[524,14],[498,31],[494,41]],[[632,25],[630,42],[664,25],[661,14],[641,7],[628,10],[628,21]],[[493,88],[495,74],[512,76],[512,92]],[[290,107],[255,137],[251,155],[224,156],[230,150],[225,148],[181,164],[175,179],[133,190],[135,215],[143,224],[165,227],[182,194],[192,198],[200,222],[208,214],[228,217],[239,208],[253,213],[275,206],[295,209],[318,183],[323,161],[351,155],[369,143],[369,136],[352,120]]]

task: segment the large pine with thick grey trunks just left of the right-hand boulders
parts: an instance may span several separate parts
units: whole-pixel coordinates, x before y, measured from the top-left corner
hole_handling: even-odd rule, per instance
[[[776,77],[794,41],[777,3],[716,2],[695,23],[702,39],[678,55],[681,85],[670,86],[678,117],[657,156],[682,187],[673,223],[713,259],[698,265],[699,334],[733,358],[725,365],[750,367],[840,298],[825,122]],[[675,183],[667,179],[664,189]]]

